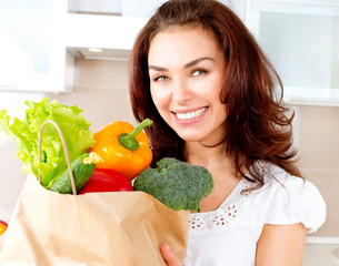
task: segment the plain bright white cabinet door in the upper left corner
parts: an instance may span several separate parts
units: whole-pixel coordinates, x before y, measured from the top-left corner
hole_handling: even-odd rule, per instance
[[[0,90],[64,91],[64,0],[0,1]]]

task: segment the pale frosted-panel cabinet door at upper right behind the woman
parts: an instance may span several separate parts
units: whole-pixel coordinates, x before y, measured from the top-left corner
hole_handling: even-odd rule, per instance
[[[249,21],[287,102],[339,105],[339,2],[253,0]]]

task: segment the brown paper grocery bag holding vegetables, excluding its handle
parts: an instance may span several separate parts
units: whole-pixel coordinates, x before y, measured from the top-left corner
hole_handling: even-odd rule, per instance
[[[187,211],[143,192],[64,195],[29,175],[0,247],[0,265],[159,266],[166,242],[185,260]]]

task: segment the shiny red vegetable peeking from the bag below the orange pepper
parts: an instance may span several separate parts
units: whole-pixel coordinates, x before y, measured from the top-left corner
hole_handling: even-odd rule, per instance
[[[114,170],[96,168],[79,194],[133,191],[129,180]]]

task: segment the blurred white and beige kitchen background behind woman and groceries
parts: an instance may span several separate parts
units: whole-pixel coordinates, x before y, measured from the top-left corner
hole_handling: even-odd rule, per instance
[[[161,0],[0,0],[0,110],[21,117],[42,96],[83,109],[94,132],[132,124],[127,62]],[[226,0],[270,57],[296,112],[299,166],[327,202],[305,266],[339,265],[339,0]],[[89,50],[91,49],[91,50]],[[0,221],[26,180],[16,144],[0,132]]]

